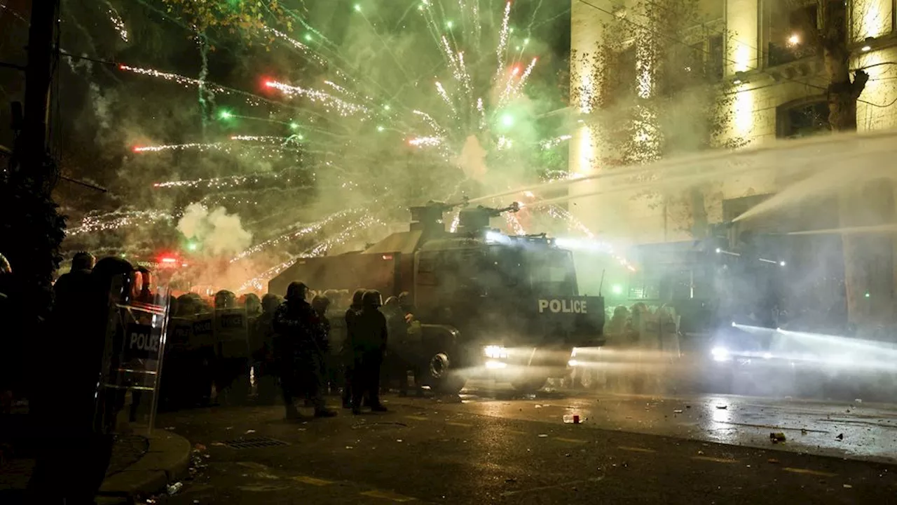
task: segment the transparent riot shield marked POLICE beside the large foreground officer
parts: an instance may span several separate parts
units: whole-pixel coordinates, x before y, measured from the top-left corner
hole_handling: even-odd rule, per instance
[[[107,306],[105,346],[96,394],[95,426],[116,430],[118,413],[132,402],[147,405],[147,435],[152,434],[169,319],[169,289],[140,297],[140,279],[125,274],[112,279]],[[147,394],[149,398],[147,398]],[[148,401],[147,401],[148,400]]]

